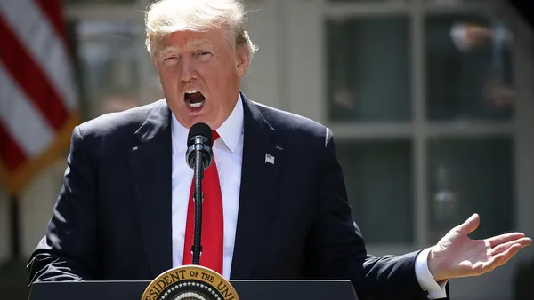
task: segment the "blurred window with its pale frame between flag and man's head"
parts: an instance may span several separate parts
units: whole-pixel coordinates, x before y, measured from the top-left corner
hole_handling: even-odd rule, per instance
[[[138,0],[66,3],[84,119],[160,99],[138,9],[145,4]],[[82,9],[77,4],[83,4]]]

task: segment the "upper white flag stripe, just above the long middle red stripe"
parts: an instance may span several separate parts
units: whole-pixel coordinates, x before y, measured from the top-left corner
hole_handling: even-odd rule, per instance
[[[44,2],[45,4],[46,2]],[[61,12],[58,12],[61,13]],[[33,0],[1,0],[0,16],[14,36],[41,67],[49,85],[69,111],[77,110],[75,79],[64,38],[57,34],[51,20]]]

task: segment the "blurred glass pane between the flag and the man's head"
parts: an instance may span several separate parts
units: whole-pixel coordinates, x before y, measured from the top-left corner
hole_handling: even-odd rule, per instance
[[[142,26],[136,23],[81,21],[75,25],[85,117],[139,105]]]

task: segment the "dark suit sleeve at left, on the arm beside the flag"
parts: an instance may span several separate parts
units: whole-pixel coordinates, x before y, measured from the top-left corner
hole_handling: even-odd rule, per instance
[[[71,138],[68,167],[44,238],[28,261],[36,281],[93,280],[97,267],[96,186],[82,132]]]

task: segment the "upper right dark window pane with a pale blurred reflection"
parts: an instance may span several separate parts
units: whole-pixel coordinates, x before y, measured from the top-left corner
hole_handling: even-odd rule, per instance
[[[426,20],[427,114],[431,120],[510,119],[510,36],[498,20]]]

